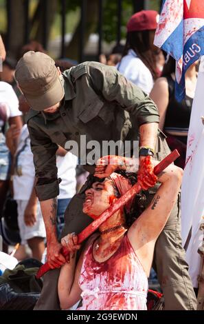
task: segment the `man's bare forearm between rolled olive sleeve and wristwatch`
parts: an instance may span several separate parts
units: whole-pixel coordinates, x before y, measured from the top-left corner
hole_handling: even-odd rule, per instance
[[[155,148],[157,139],[158,123],[146,123],[139,128],[139,147],[148,146]]]

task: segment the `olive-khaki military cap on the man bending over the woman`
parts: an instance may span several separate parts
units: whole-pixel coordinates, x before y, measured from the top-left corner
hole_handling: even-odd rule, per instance
[[[54,60],[41,52],[27,52],[16,65],[15,79],[34,110],[44,110],[60,102],[64,95],[63,77]]]

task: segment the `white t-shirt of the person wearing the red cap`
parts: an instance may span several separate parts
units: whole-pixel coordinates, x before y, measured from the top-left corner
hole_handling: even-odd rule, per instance
[[[128,80],[135,83],[141,90],[150,94],[154,81],[150,70],[137,57],[134,50],[128,50],[128,54],[116,65],[117,70]]]

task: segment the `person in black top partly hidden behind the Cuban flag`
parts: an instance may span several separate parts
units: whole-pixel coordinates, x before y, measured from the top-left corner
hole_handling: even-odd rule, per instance
[[[174,96],[176,64],[175,60],[170,56],[164,65],[161,78],[157,79],[154,88],[150,92],[150,97],[155,101],[159,109],[159,128],[165,132],[170,149],[174,150],[176,148],[181,154],[175,164],[183,169],[185,166],[190,114],[196,90],[196,65],[197,62],[192,64],[185,73],[186,94],[183,101],[178,102]]]

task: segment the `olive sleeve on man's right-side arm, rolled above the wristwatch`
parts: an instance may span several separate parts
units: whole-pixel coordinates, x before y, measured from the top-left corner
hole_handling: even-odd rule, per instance
[[[139,126],[144,123],[159,123],[159,112],[155,103],[116,68],[91,62],[88,73],[93,88],[107,101],[116,101],[132,114]]]

